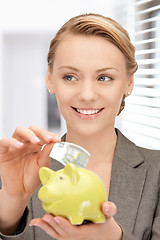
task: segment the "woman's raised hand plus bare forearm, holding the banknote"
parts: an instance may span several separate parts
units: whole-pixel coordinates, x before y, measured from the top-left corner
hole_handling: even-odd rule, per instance
[[[60,142],[58,136],[37,126],[18,127],[12,138],[0,140],[2,233],[15,233],[31,195],[40,185],[39,168],[49,167],[55,142]]]

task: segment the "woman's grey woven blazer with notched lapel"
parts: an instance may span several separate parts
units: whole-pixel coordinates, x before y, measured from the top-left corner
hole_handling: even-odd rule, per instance
[[[119,130],[116,131],[118,140],[109,201],[117,205],[115,220],[122,227],[123,240],[160,240],[160,151],[137,147]],[[52,161],[54,170],[62,167],[57,161]],[[30,219],[44,214],[37,192],[32,196],[28,209],[23,215],[19,233],[15,236],[0,234],[0,239],[53,240],[40,228],[28,227]]]

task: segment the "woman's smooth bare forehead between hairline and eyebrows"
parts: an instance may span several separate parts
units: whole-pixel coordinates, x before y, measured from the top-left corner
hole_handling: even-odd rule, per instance
[[[120,49],[109,40],[99,36],[68,34],[58,43],[54,65],[71,64],[99,66],[113,65],[126,68],[126,60]]]

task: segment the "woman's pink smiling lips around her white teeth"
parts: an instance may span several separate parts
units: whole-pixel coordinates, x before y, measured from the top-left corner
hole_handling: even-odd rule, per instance
[[[97,118],[102,113],[102,111],[104,110],[104,108],[78,108],[79,110],[100,110],[98,113],[87,115],[87,114],[77,112],[76,111],[77,108],[75,108],[75,107],[72,107],[72,109],[78,117],[80,117],[81,119],[88,119],[88,120]]]

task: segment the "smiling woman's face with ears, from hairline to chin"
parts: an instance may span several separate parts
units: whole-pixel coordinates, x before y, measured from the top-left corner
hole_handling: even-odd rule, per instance
[[[47,73],[67,130],[83,135],[114,128],[132,81],[123,53],[96,36],[66,36],[56,49],[53,71]]]

